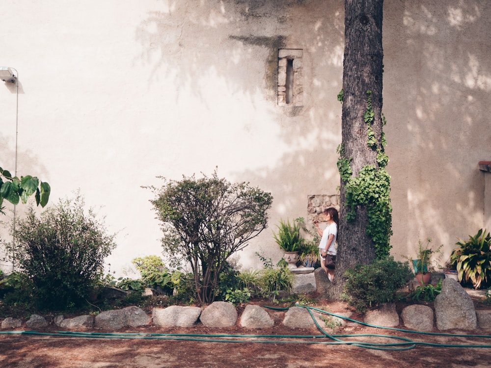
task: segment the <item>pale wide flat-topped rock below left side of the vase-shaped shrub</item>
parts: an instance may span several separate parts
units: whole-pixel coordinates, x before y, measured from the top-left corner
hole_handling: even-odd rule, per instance
[[[191,327],[201,314],[198,307],[181,307],[171,305],[167,308],[154,308],[153,323],[159,327]]]

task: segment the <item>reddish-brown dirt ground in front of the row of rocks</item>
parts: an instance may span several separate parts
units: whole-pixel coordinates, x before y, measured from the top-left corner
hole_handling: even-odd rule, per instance
[[[398,306],[398,309],[403,306]],[[349,308],[341,302],[323,303],[323,310],[341,313]],[[275,325],[270,329],[246,330],[238,327],[212,329],[200,324],[195,327],[159,328],[144,326],[116,331],[116,339],[70,337],[56,333],[55,326],[38,330],[52,335],[0,334],[0,367],[72,368],[72,367],[490,367],[491,337],[455,337],[406,333],[349,323],[335,330],[325,327],[328,334],[320,337],[317,329],[290,329],[281,321],[285,311],[271,310]],[[357,318],[356,315],[353,316]],[[404,326],[400,326],[404,328]],[[105,332],[93,329],[86,332]],[[109,332],[109,331],[106,331]],[[114,332],[114,331],[111,331]],[[434,330],[434,332],[438,332]],[[483,331],[445,331],[447,334],[482,335]],[[484,332],[486,333],[486,332]],[[166,334],[156,336],[151,334]],[[192,336],[168,336],[189,334]],[[241,335],[237,337],[196,336]],[[359,336],[376,334],[387,337]],[[244,336],[247,335],[247,336]],[[262,336],[259,336],[262,335]],[[269,336],[274,335],[274,336]],[[300,337],[307,336],[307,337]],[[344,336],[339,336],[344,335]],[[347,335],[358,335],[355,337]],[[310,336],[310,337],[308,337]],[[317,337],[312,337],[317,336]],[[405,340],[395,339],[404,337]],[[158,339],[160,338],[160,339]],[[172,339],[172,340],[168,340]],[[179,340],[177,340],[179,339]],[[213,340],[213,341],[210,341]],[[403,350],[380,350],[355,346],[368,344],[404,343]],[[224,341],[226,340],[226,341]],[[454,345],[452,347],[430,344]],[[479,345],[487,347],[463,347]],[[372,345],[373,346],[373,345]]]

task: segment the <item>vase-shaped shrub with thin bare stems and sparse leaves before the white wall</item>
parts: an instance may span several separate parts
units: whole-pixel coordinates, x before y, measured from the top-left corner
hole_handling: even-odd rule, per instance
[[[194,275],[195,297],[211,303],[226,260],[246,247],[268,223],[273,197],[248,183],[211,178],[167,181],[150,201],[162,223],[164,252],[171,264],[185,261]]]

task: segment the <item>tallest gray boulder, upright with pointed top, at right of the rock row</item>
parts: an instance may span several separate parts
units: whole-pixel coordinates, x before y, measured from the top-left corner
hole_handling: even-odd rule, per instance
[[[436,296],[434,306],[438,330],[473,330],[477,327],[474,303],[456,280],[443,280],[441,293]]]

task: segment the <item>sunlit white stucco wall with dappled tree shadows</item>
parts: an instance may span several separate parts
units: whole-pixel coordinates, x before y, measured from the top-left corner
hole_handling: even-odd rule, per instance
[[[141,185],[200,172],[247,181],[274,197],[270,228],[241,254],[280,258],[280,218],[306,215],[307,195],[339,185],[344,9],[311,1],[43,1],[2,3],[0,166],[80,188],[118,232],[108,262],[124,273],[160,254]],[[384,6],[384,114],[392,175],[393,253],[483,226],[491,73],[481,1]],[[277,49],[303,49],[304,106],[276,102]],[[19,206],[17,209],[22,210]],[[10,215],[9,215],[10,216]],[[8,216],[7,216],[8,217]]]

